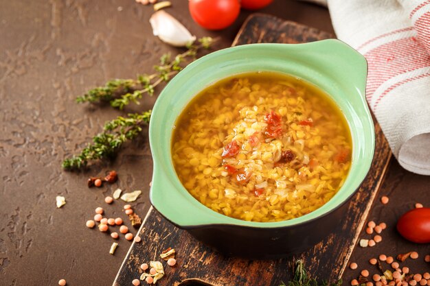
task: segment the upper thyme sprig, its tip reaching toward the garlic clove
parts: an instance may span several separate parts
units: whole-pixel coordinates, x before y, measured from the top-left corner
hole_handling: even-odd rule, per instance
[[[187,50],[172,58],[170,53],[163,54],[159,65],[154,67],[155,73],[150,75],[137,75],[134,80],[115,79],[109,80],[104,86],[98,86],[89,90],[84,95],[77,97],[76,102],[109,102],[112,107],[122,110],[132,102],[139,104],[144,94],[154,95],[155,86],[161,82],[168,82],[179,73],[186,64],[196,59],[201,49],[209,49],[216,39],[203,37],[197,43],[188,45]]]

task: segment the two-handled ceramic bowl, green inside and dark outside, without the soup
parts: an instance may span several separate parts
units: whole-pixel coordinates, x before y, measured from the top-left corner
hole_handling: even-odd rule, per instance
[[[174,171],[172,128],[185,106],[205,87],[250,71],[286,73],[318,86],[334,99],[350,126],[353,150],[348,178],[329,202],[302,217],[282,222],[246,222],[221,215],[194,199]],[[339,40],[242,45],[192,62],[164,88],[152,110],[152,205],[172,224],[230,254],[279,257],[313,246],[345,216],[345,203],[357,191],[372,163],[374,123],[365,102],[366,75],[365,58]],[[253,243],[269,246],[257,254],[253,248],[254,254],[247,254],[246,249]]]

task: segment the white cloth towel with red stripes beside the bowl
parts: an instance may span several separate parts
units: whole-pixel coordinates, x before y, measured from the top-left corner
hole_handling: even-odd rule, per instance
[[[430,1],[328,0],[369,65],[366,98],[400,165],[430,175]]]

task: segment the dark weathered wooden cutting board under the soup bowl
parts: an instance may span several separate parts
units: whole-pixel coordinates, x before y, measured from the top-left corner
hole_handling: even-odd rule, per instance
[[[233,45],[249,43],[306,43],[334,38],[318,29],[283,21],[264,14],[253,14],[238,32]],[[159,254],[166,248],[177,251],[177,266],[166,263],[166,275],[157,285],[273,285],[291,280],[294,259],[304,259],[306,267],[319,281],[336,281],[343,274],[357,244],[363,224],[376,197],[392,156],[381,128],[375,124],[376,150],[367,178],[350,200],[345,219],[326,239],[307,252],[288,259],[246,260],[224,257],[164,219],[150,208],[139,230],[142,242],[133,243],[113,285],[132,285],[142,274],[139,265],[160,261]],[[258,247],[258,246],[256,246]],[[146,285],[142,281],[142,285]]]

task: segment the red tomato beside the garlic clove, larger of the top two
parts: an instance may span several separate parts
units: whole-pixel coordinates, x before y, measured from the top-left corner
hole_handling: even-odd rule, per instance
[[[205,29],[224,29],[240,12],[239,0],[190,0],[188,8],[192,19]]]

